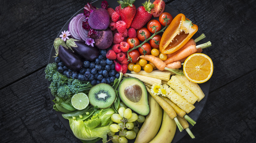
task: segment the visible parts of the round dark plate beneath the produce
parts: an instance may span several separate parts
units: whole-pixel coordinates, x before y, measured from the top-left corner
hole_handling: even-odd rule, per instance
[[[101,1],[102,1],[102,0],[97,0],[97,1],[93,2],[92,5],[95,6],[96,8],[101,8]],[[145,1],[145,0],[143,0],[143,1],[137,0],[137,1],[134,2],[134,5],[136,6],[136,8],[138,8],[139,6],[142,6],[141,4],[144,3],[144,1]],[[119,4],[117,3],[117,1],[109,1],[109,0],[107,0],[107,2],[108,2],[108,4],[109,4],[109,7],[113,8],[113,9],[115,9],[115,8],[119,5]],[[75,17],[75,16],[76,16],[77,14],[79,14],[79,13],[83,13],[84,8],[83,8],[83,6],[81,6],[81,7],[82,7],[82,8],[81,8],[79,11],[77,11],[77,12],[69,19],[69,21],[62,27],[62,29],[60,30],[60,32],[59,32],[57,38],[61,35],[61,31],[64,31],[64,30],[67,31],[67,30],[68,30],[69,22],[71,21],[71,19],[72,19],[73,17]],[[177,11],[175,11],[175,10],[172,9],[172,8],[170,8],[168,5],[165,5],[164,12],[169,12],[169,13],[173,16],[173,18],[174,18],[176,15],[179,14]],[[153,16],[152,16],[152,19],[159,20],[158,17],[157,17],[157,18],[154,18]],[[197,38],[198,36],[200,36],[200,35],[199,35],[198,33],[196,33],[192,38],[195,39],[195,38]],[[205,50],[203,50],[202,53],[203,53],[203,54],[207,54]],[[51,50],[51,53],[50,53],[50,57],[49,57],[48,63],[53,63],[53,62],[54,62],[53,56],[55,56],[55,49],[54,49],[54,46],[52,47],[52,50]],[[49,87],[51,83],[50,83],[49,81],[47,81],[47,84],[48,84],[48,87]],[[197,119],[199,118],[199,116],[200,116],[200,114],[201,114],[201,112],[202,112],[202,110],[203,110],[203,107],[204,107],[204,105],[205,105],[205,103],[206,103],[206,101],[207,101],[207,98],[208,98],[208,95],[209,95],[210,80],[208,80],[208,81],[205,82],[205,83],[199,84],[199,86],[200,86],[201,89],[203,90],[203,93],[204,93],[205,97],[204,97],[200,102],[196,102],[196,103],[194,104],[194,106],[195,106],[196,108],[195,108],[194,110],[192,110],[192,111],[188,114],[188,116],[189,116],[190,118],[192,118],[193,120],[195,120],[195,121],[197,121]],[[51,91],[50,91],[49,88],[48,88],[48,90],[49,90],[50,99],[51,99],[51,100],[54,100],[54,97],[53,97],[53,95],[51,94]],[[54,103],[53,103],[53,104],[54,104]],[[55,111],[55,112],[56,112],[56,111]],[[62,122],[62,124],[66,127],[66,129],[67,129],[72,135],[74,135],[73,132],[72,132],[72,130],[71,130],[71,128],[70,128],[70,126],[69,126],[69,121],[68,121],[67,119],[64,119],[64,118],[61,116],[61,114],[63,114],[63,113],[62,113],[62,112],[56,112],[56,114],[57,114],[58,118],[60,119],[60,121]],[[200,124],[200,123],[197,123],[197,124]],[[197,124],[195,124],[195,126],[196,126]],[[192,127],[193,127],[193,126],[192,126],[191,124],[189,124],[189,128],[191,129]],[[183,130],[182,132],[180,132],[179,129],[177,128],[176,133],[175,133],[175,136],[174,136],[174,138],[173,138],[173,140],[172,140],[172,143],[178,142],[178,141],[179,141],[184,135],[186,135],[186,134],[187,134],[187,132],[186,132],[185,130]],[[75,135],[74,135],[74,136],[75,136]],[[78,139],[78,140],[79,140],[79,139]],[[135,141],[135,139],[129,140],[128,142],[132,143],[132,142],[134,142],[134,141]],[[99,140],[98,143],[102,143],[102,141]]]

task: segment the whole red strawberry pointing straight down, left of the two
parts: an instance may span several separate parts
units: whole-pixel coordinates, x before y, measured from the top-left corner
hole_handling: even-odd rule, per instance
[[[136,14],[136,7],[133,4],[135,0],[119,0],[117,2],[120,4],[119,8],[116,8],[117,13],[121,20],[127,24],[126,28],[129,28]]]

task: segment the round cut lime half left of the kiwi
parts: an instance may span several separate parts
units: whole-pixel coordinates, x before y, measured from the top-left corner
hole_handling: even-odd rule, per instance
[[[71,104],[77,110],[83,110],[89,105],[89,98],[85,93],[77,93],[72,96]]]

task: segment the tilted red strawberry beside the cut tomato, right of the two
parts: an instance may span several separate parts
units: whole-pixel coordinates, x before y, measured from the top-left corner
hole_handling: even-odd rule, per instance
[[[142,5],[137,9],[131,24],[131,28],[136,30],[142,28],[152,17],[151,9],[154,8],[154,4],[146,1]]]

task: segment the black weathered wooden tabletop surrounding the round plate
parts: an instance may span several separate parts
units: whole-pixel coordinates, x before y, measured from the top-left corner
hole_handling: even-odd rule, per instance
[[[4,1],[0,9],[1,142],[78,142],[59,121],[45,67],[62,26],[88,0]],[[179,142],[256,141],[256,1],[165,1],[199,26],[212,46],[209,97],[196,136]]]

